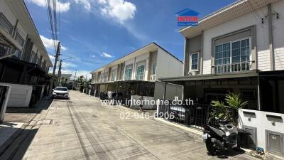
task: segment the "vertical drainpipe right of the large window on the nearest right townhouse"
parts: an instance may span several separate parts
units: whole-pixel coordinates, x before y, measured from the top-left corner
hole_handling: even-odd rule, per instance
[[[269,30],[269,51],[270,51],[270,60],[271,60],[271,70],[275,70],[271,4],[268,4],[267,6],[268,6],[268,30]]]

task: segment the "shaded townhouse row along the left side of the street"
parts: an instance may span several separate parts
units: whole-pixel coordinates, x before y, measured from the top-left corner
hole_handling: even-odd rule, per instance
[[[8,107],[28,107],[48,90],[53,64],[23,0],[0,1],[0,82],[10,85]]]

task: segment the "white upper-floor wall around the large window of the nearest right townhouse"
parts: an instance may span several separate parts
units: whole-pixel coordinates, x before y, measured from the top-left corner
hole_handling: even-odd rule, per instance
[[[275,48],[276,70],[284,69],[284,1],[278,1],[273,4],[273,9],[279,13],[279,19],[273,17],[273,43]],[[268,7],[257,10],[261,17],[267,16]],[[258,55],[258,69],[270,70],[270,56],[268,45],[268,20],[262,24],[256,19],[253,12],[234,18],[231,21],[222,23],[213,28],[204,31],[204,63],[203,74],[211,73],[211,54],[212,54],[212,38],[231,33],[242,28],[256,25],[256,50]]]

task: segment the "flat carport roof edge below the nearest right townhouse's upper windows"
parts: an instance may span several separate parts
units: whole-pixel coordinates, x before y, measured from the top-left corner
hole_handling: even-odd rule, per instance
[[[190,80],[217,80],[229,78],[248,78],[258,76],[258,70],[249,70],[238,73],[206,74],[206,75],[187,75],[173,78],[159,78],[163,82],[190,81]]]

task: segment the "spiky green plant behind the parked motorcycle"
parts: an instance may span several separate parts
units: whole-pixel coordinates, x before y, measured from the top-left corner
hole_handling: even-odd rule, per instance
[[[218,100],[212,100],[212,112],[210,112],[209,121],[214,118],[217,121],[227,120],[232,122],[234,125],[237,125],[238,110],[248,105],[248,102],[243,102],[240,95],[235,93],[226,94],[225,100],[226,105],[224,105],[224,102],[222,101],[219,102]]]

